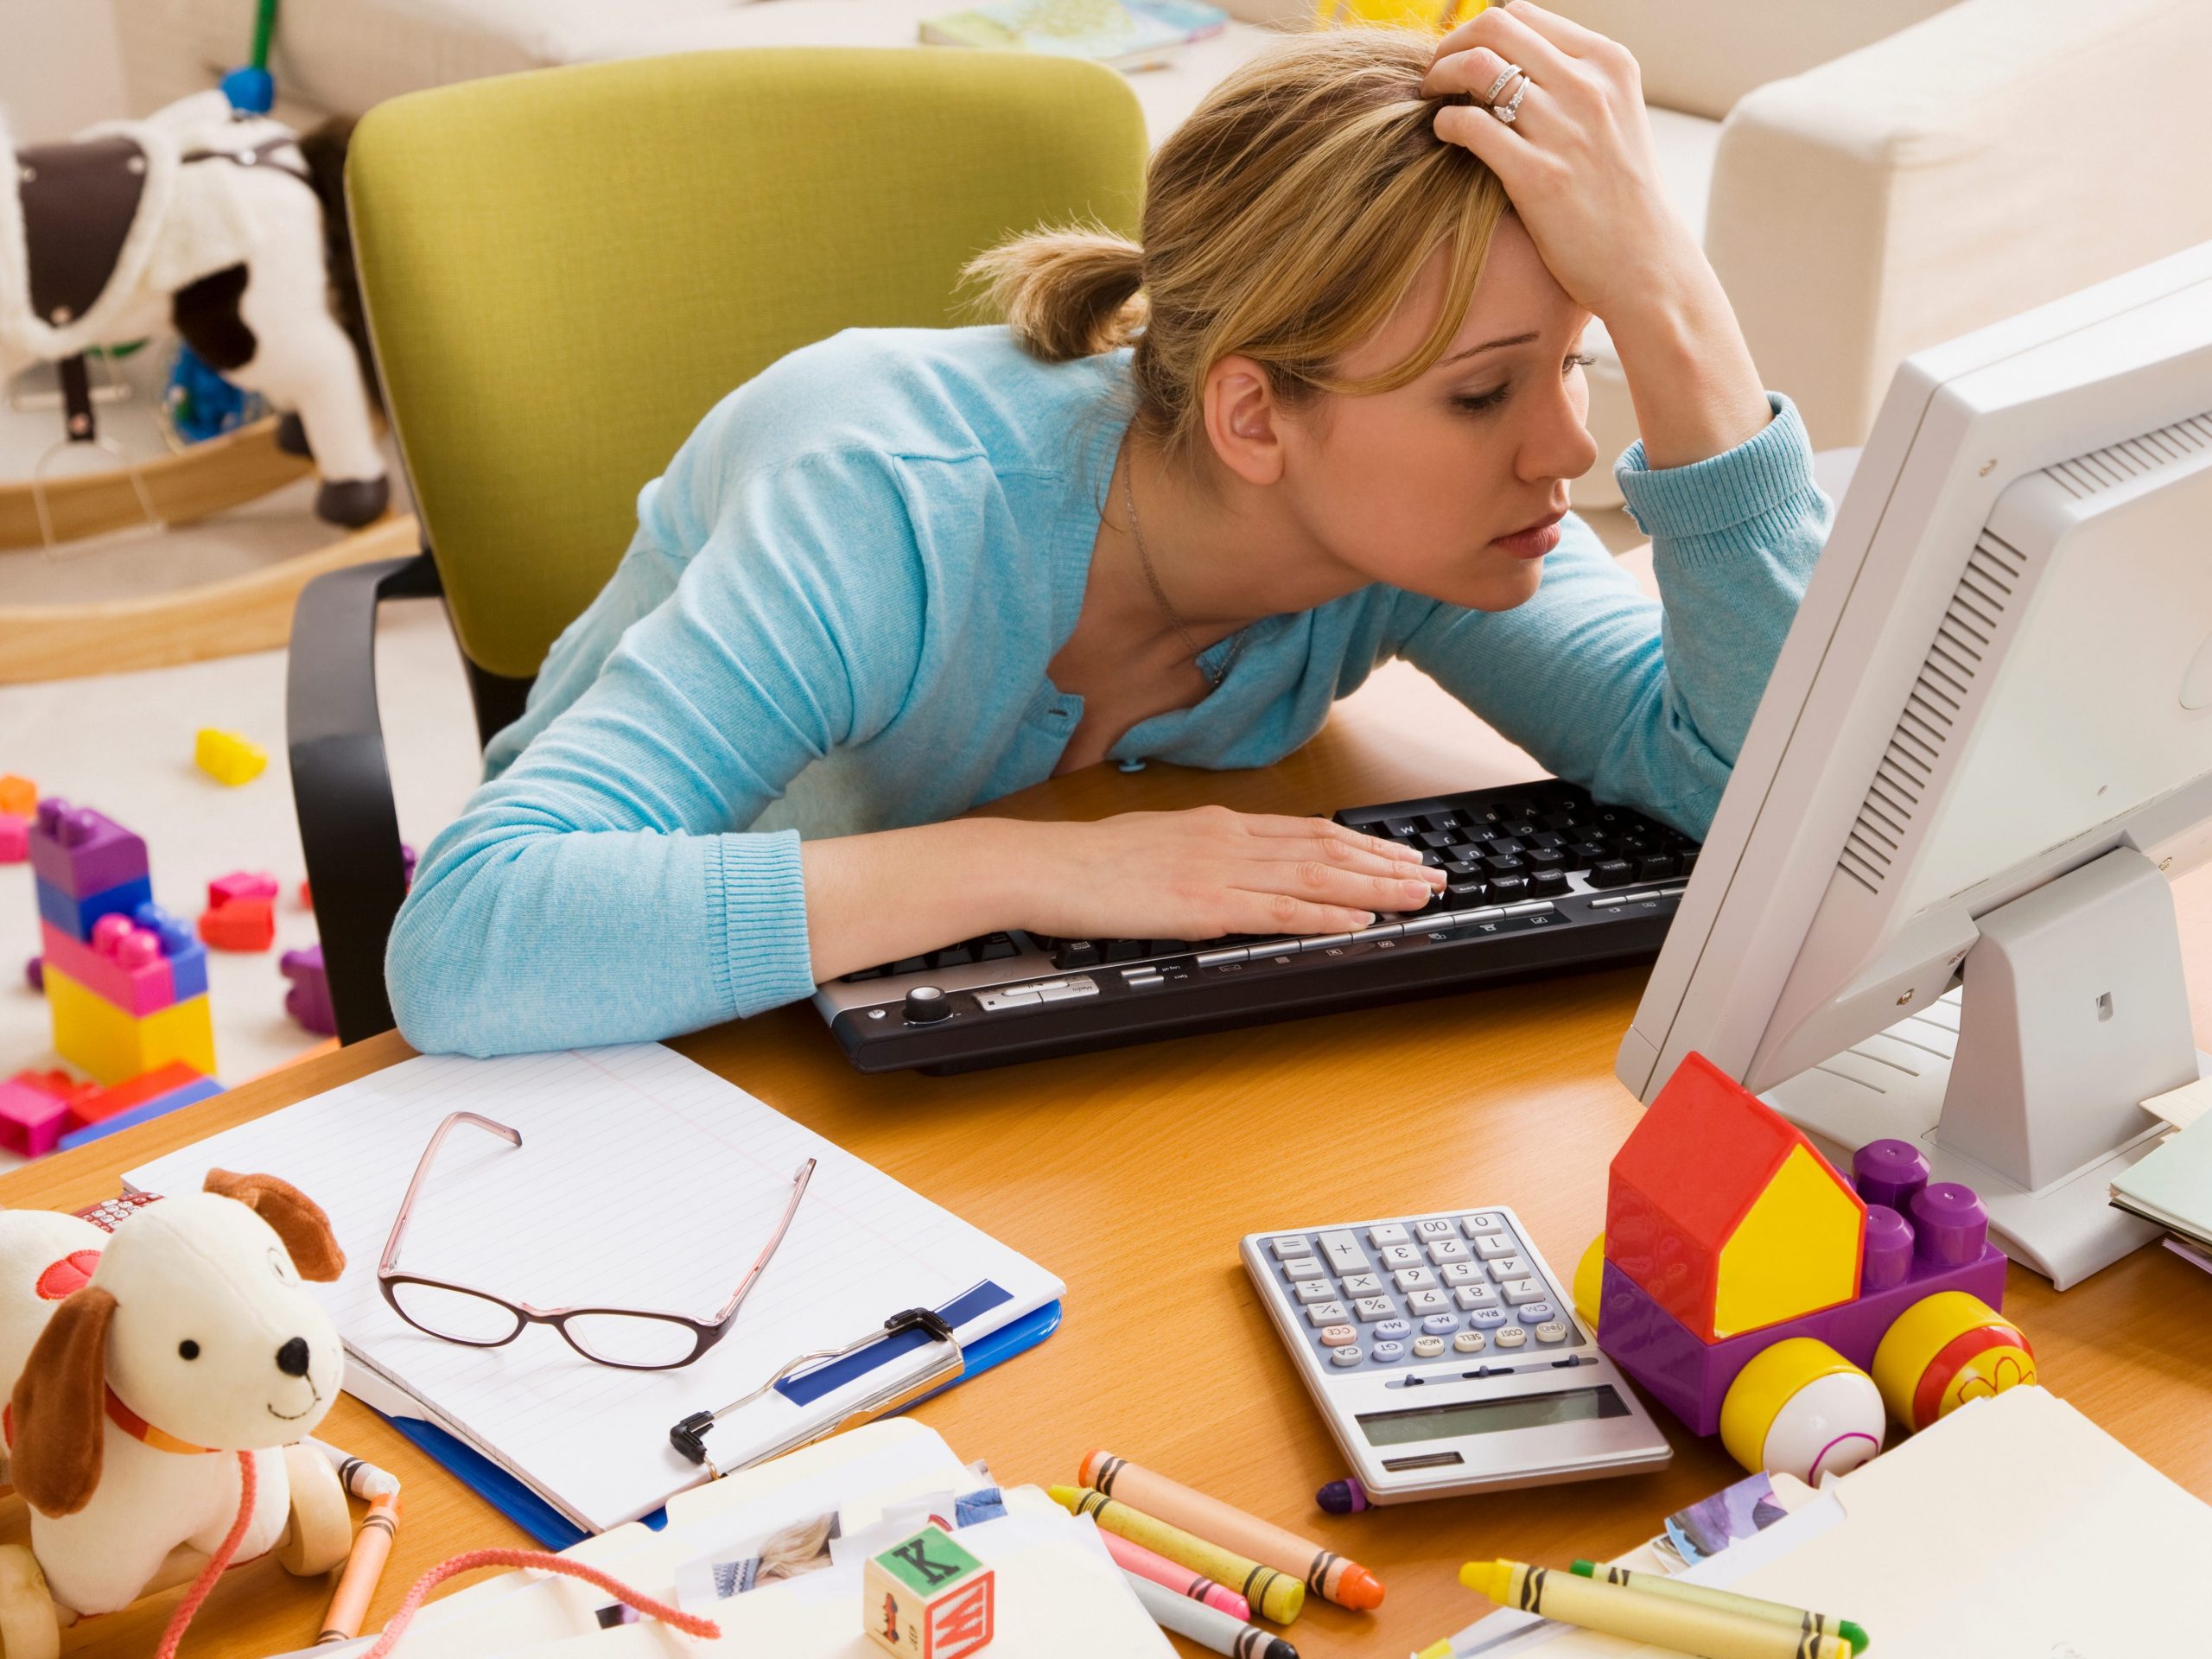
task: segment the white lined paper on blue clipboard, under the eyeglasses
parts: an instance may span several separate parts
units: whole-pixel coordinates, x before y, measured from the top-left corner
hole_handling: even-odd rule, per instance
[[[768,1241],[799,1164],[818,1166],[723,1340],[679,1371],[617,1371],[546,1325],[473,1349],[425,1336],[385,1305],[376,1259],[431,1130],[453,1110],[520,1130],[522,1146],[456,1126],[416,1199],[400,1267],[540,1307],[712,1318]],[[843,1347],[900,1307],[936,1307],[978,1281],[1009,1298],[962,1325],[964,1343],[1062,1294],[1022,1254],[659,1044],[407,1060],[124,1179],[190,1192],[210,1168],[279,1175],[321,1203],[347,1265],[314,1290],[349,1365],[414,1396],[438,1427],[591,1531],[695,1482],[699,1469],[668,1444],[670,1425],[752,1391],[785,1360]]]

